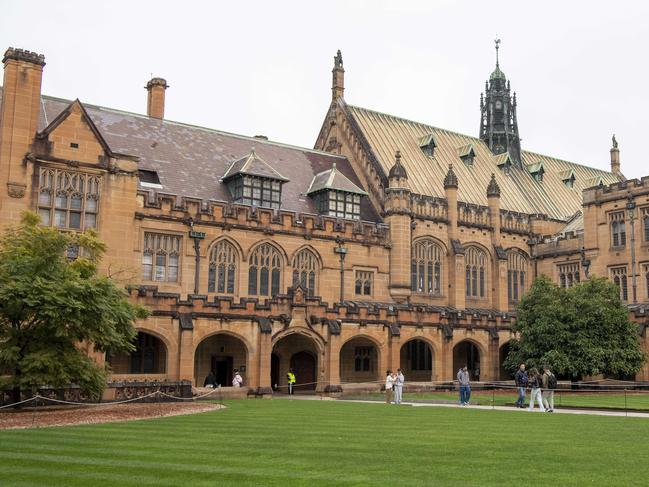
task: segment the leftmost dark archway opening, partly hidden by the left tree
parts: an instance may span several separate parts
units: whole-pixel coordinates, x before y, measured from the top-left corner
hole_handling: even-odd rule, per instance
[[[138,331],[131,353],[108,354],[106,359],[114,375],[165,374],[167,346],[155,335]]]

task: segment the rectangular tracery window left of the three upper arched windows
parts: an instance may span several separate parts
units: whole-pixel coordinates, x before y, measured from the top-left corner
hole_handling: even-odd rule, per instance
[[[142,278],[146,281],[178,282],[179,235],[144,232]]]

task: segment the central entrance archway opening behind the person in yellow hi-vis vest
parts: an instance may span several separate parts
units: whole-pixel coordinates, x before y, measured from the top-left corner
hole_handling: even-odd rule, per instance
[[[278,392],[287,392],[286,374],[293,369],[295,391],[314,391],[318,385],[318,347],[313,339],[301,333],[286,335],[273,346],[271,360],[271,383],[278,386]],[[275,364],[273,366],[273,363]]]

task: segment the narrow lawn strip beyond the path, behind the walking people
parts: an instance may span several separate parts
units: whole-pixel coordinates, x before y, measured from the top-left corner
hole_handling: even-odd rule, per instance
[[[503,391],[471,391],[471,404],[480,406],[513,406],[518,394]],[[379,392],[346,394],[345,399],[385,400],[385,395]],[[526,396],[526,405],[529,405],[529,391]],[[458,392],[404,392],[404,401],[415,402],[448,402],[459,401]],[[606,408],[606,409],[635,409],[649,410],[649,392],[627,392],[626,401],[624,392],[574,392],[556,390],[554,393],[554,406],[571,408]]]

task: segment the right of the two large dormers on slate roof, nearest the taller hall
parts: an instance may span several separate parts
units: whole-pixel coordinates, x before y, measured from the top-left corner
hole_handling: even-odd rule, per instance
[[[334,163],[331,169],[313,176],[306,195],[313,198],[321,215],[360,220],[361,198],[367,193],[352,183]]]

